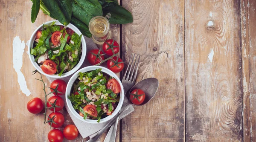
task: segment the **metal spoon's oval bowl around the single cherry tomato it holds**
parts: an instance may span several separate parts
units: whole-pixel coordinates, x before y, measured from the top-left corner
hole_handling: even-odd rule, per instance
[[[131,87],[130,93],[135,89],[143,90],[145,93],[145,100],[143,101],[142,104],[139,104],[139,105],[144,105],[148,101],[150,101],[154,97],[154,95],[157,93],[158,86],[159,86],[159,81],[157,80],[157,78],[146,78],[146,79],[143,79],[142,81],[139,81],[137,84]],[[129,101],[130,101],[130,93],[128,94]],[[132,104],[132,102],[130,103]]]

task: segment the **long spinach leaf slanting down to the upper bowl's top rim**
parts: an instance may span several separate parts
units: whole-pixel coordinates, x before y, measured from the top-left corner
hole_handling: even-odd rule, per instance
[[[70,23],[70,20],[65,17],[61,8],[58,6],[58,3],[55,0],[42,0],[46,8],[50,12],[50,16],[52,15],[57,20],[59,20],[63,25],[67,26]]]

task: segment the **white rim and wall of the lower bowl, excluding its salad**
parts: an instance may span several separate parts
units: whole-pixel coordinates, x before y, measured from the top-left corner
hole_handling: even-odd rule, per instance
[[[124,102],[124,87],[122,86],[122,82],[116,76],[116,74],[114,72],[112,72],[111,70],[108,70],[107,68],[101,67],[101,66],[88,66],[88,67],[84,67],[84,68],[80,69],[79,71],[77,71],[74,75],[72,75],[72,77],[70,78],[70,80],[67,83],[66,96],[65,96],[66,102],[67,102],[67,107],[71,111],[71,113],[73,113],[73,115],[76,116],[76,118],[80,119],[83,122],[88,122],[88,123],[93,123],[93,124],[99,124],[97,122],[98,120],[91,120],[91,119],[84,120],[84,118],[82,116],[80,116],[76,112],[76,110],[73,108],[73,105],[72,105],[70,99],[68,99],[68,97],[70,96],[74,82],[76,81],[76,79],[79,76],[79,72],[90,72],[90,71],[96,70],[96,69],[102,69],[101,70],[102,72],[105,72],[106,74],[112,76],[113,78],[116,78],[116,80],[118,81],[118,83],[120,84],[120,87],[121,87],[121,91],[119,93],[120,100],[119,100],[119,103],[118,103],[117,107],[115,108],[114,112],[110,116],[107,116],[104,119],[100,119],[99,123],[107,122],[108,120],[111,120],[114,116],[116,116],[116,114],[118,114],[118,112],[121,110],[122,104]]]

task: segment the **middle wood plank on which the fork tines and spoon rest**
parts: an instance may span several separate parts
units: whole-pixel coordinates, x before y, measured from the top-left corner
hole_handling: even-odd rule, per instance
[[[140,55],[137,81],[155,77],[158,92],[122,119],[122,142],[184,141],[183,0],[122,0],[134,22],[122,25],[122,58]]]

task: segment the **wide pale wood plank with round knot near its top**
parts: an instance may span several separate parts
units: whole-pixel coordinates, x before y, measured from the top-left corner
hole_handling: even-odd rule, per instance
[[[186,141],[242,141],[239,0],[185,1]]]

